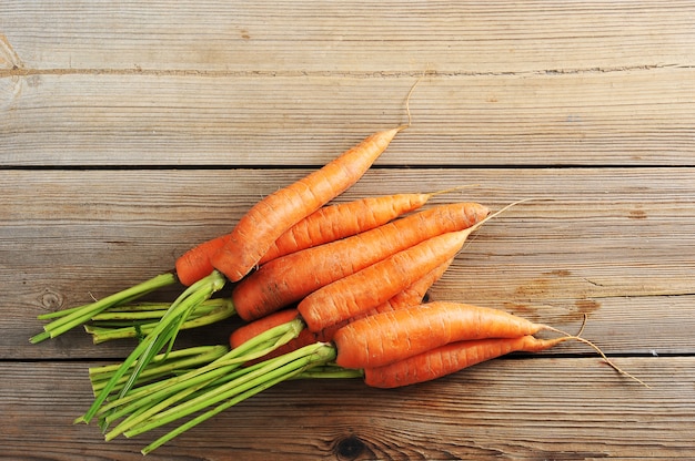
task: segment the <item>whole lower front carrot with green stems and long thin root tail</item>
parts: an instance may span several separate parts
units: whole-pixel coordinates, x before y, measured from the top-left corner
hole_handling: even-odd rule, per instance
[[[401,315],[403,313],[407,315]],[[360,322],[370,320],[373,321],[369,325],[353,328]],[[444,344],[497,337],[518,338],[542,329],[567,336],[566,339],[562,338],[556,342],[571,339],[570,335],[552,327],[534,324],[504,311],[455,303],[432,303],[380,314],[341,328],[333,344],[318,342],[304,346],[250,367],[235,368],[231,373],[226,372],[230,361],[221,357],[208,363],[201,371],[193,370],[187,376],[174,378],[174,386],[164,385],[157,388],[154,399],[142,399],[142,403],[137,400],[132,404],[128,398],[124,401],[117,399],[109,404],[110,409],[113,404],[121,406],[119,402],[121,400],[125,407],[121,407],[119,417],[128,412],[130,416],[108,432],[107,438],[110,440],[119,433],[134,437],[198,413],[145,447],[142,452],[148,453],[183,431],[272,386],[289,379],[302,378],[308,370],[313,371],[331,363],[341,366],[346,358],[356,355],[361,358],[351,362],[350,367],[366,370],[407,359]],[[346,332],[343,334],[344,331]],[[261,334],[263,335],[265,334]],[[593,346],[583,338],[572,338]],[[261,342],[259,337],[255,340]],[[394,347],[396,345],[397,347]],[[417,351],[423,347],[423,350]],[[597,347],[593,347],[600,351]],[[357,349],[360,351],[355,354]],[[234,349],[230,354],[233,352]],[[603,352],[601,355],[606,359]],[[330,376],[336,376],[335,368],[332,366],[329,368]],[[617,367],[614,368],[622,371]],[[306,376],[321,377],[321,375],[322,372],[318,371]],[[355,373],[350,376],[354,377]]]

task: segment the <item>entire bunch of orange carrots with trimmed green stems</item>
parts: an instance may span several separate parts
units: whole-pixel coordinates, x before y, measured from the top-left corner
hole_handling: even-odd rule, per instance
[[[230,234],[182,255],[174,270],[41,317],[51,321],[32,342],[80,325],[94,342],[139,338],[122,363],[90,370],[94,401],[78,421],[98,418],[111,440],[198,413],[145,447],[148,453],[288,379],[360,377],[393,388],[570,339],[608,361],[578,335],[497,309],[424,301],[467,237],[506,208],[491,214],[464,202],[419,209],[447,191],[326,205],[406,126],[372,134],[261,199]],[[138,303],[177,281],[187,288],[173,303]],[[231,298],[213,298],[226,284]],[[231,332],[229,346],[174,350],[181,329],[233,315],[245,325]],[[558,336],[534,336],[544,330]]]

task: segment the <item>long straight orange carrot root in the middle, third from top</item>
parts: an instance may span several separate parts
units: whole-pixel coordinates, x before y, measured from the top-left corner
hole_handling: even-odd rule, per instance
[[[434,235],[473,226],[488,215],[476,203],[439,205],[352,237],[273,259],[232,291],[236,313],[253,320]]]

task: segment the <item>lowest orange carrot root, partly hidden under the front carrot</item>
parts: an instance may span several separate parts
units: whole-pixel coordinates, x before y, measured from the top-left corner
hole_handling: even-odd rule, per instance
[[[565,337],[538,339],[525,335],[518,338],[488,338],[450,342],[393,363],[366,368],[364,382],[367,386],[382,389],[415,385],[442,378],[511,352],[540,352],[566,339]]]

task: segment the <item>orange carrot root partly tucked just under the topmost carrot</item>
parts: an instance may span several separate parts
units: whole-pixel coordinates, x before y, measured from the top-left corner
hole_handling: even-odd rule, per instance
[[[423,206],[432,194],[394,194],[324,206],[290,227],[259,260],[269,260],[373,229]]]

